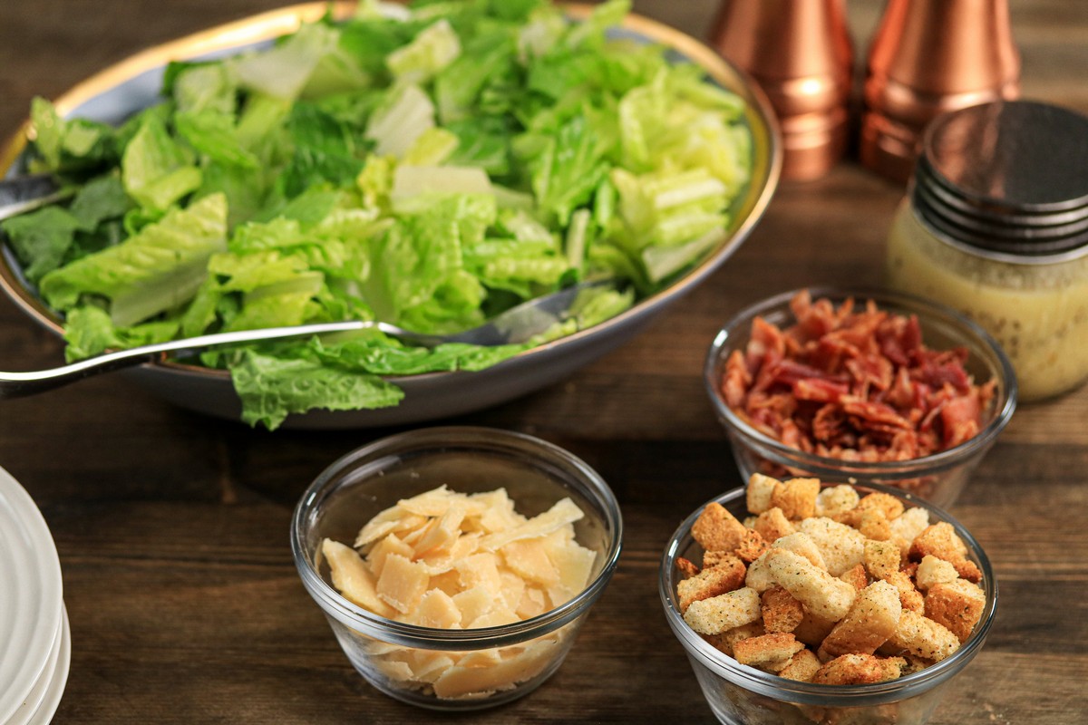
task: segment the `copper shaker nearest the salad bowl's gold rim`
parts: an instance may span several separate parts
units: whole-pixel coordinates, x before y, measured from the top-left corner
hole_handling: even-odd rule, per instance
[[[782,132],[782,178],[829,171],[850,133],[854,50],[842,0],[725,0],[710,43],[767,93]]]

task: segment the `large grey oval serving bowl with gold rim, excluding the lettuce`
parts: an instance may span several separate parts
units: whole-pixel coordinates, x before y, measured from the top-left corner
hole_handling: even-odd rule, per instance
[[[334,12],[347,16],[353,5],[339,3],[334,7]],[[387,10],[395,13],[397,7],[388,5]],[[585,16],[591,8],[570,5],[567,10],[577,20]],[[296,30],[302,23],[317,21],[327,11],[329,5],[323,2],[293,5],[151,48],[88,78],[55,99],[54,103],[64,116],[120,123],[156,101],[168,62],[221,58],[258,47]],[[351,428],[410,424],[481,410],[551,385],[630,339],[655,314],[703,282],[743,242],[770,201],[781,165],[777,126],[765,97],[746,76],[717,53],[673,28],[630,15],[618,33],[640,41],[666,46],[670,57],[698,64],[709,78],[735,92],[746,103],[745,123],[753,137],[752,179],[730,210],[730,226],[722,229],[716,248],[671,286],[594,327],[528,350],[483,371],[390,378],[405,391],[404,400],[395,408],[311,411],[288,416],[284,424],[286,427]],[[0,175],[18,173],[25,142],[25,133],[20,133],[0,152]],[[33,320],[61,334],[61,318],[28,288],[7,247],[0,259],[0,286]],[[219,417],[239,417],[240,402],[225,371],[165,361],[148,363],[124,374],[182,408]]]

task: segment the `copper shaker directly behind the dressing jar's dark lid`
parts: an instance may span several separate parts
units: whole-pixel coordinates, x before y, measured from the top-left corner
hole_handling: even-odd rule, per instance
[[[861,161],[905,183],[932,118],[1017,96],[1007,0],[889,0],[869,48]]]

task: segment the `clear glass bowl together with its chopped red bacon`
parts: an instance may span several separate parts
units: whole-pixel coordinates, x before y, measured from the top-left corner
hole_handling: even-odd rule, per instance
[[[876,289],[747,308],[715,337],[704,377],[744,478],[881,484],[940,507],[1016,408],[1012,364],[978,325]]]

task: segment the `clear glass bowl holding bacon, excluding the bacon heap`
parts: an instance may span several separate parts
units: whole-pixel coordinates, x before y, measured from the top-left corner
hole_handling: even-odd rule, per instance
[[[861,305],[873,300],[880,310],[917,315],[923,341],[930,349],[966,348],[965,368],[976,384],[997,380],[977,435],[940,452],[904,461],[846,461],[807,453],[753,427],[726,402],[721,379],[733,350],[744,351],[756,317],[784,328],[794,322],[790,301],[800,290],[783,292],[740,312],[722,327],[706,357],[703,377],[710,403],[725,426],[742,480],[753,473],[774,477],[806,476],[821,480],[883,484],[916,493],[940,507],[959,498],[982,455],[1004,429],[1016,408],[1016,376],[1007,355],[981,327],[960,313],[922,298],[886,290],[812,288],[813,300],[827,298],[838,307],[853,298]]]

